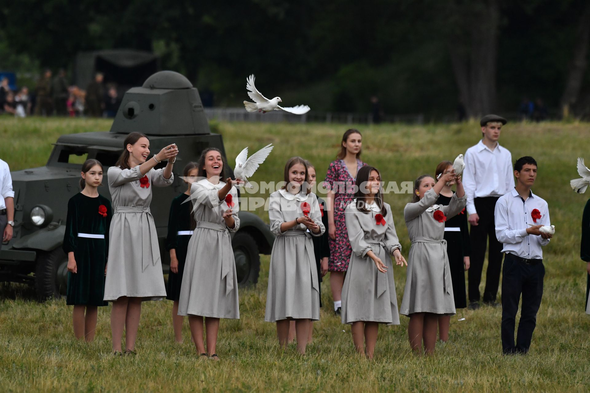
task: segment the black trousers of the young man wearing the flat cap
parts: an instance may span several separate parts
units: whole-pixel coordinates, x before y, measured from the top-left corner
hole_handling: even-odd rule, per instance
[[[474,199],[477,215],[480,217],[476,226],[471,226],[471,266],[467,270],[469,279],[468,293],[470,302],[478,302],[480,299],[479,285],[483,260],[486,257],[486,246],[489,240],[490,253],[487,257],[486,288],[483,291],[484,302],[495,302],[500,285],[500,270],[502,267],[502,243],[496,239],[496,222],[494,221],[494,209],[498,197],[485,197]]]

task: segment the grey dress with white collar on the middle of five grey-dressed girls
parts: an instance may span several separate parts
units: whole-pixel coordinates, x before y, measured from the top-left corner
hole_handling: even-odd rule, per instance
[[[319,233],[311,233],[303,224],[281,232],[281,224],[303,216],[306,203],[309,217],[320,226]],[[270,194],[268,204],[270,230],[274,239],[268,271],[266,315],[264,321],[281,319],[320,318],[320,292],[312,236],[325,231],[322,212],[315,194],[290,194],[285,190]]]

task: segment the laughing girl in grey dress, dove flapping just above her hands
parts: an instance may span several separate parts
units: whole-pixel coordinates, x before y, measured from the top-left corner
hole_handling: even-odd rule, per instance
[[[188,315],[192,340],[201,356],[219,360],[219,318],[240,318],[238,279],[230,232],[240,228],[238,191],[241,180],[225,179],[221,152],[208,148],[199,159],[198,179],[191,186],[194,231],[186,250],[178,315]],[[203,341],[203,318],[207,351]]]

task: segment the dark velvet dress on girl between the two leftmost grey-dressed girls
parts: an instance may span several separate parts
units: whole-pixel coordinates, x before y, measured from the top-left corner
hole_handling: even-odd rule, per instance
[[[168,274],[168,286],[166,287],[166,299],[178,302],[181,296],[182,273],[186,260],[186,250],[188,242],[191,240],[190,235],[178,235],[178,231],[191,230],[191,210],[192,203],[185,202],[189,196],[185,193],[176,196],[170,206],[170,216],[168,217],[168,237],[166,237],[166,250],[176,250],[176,259],[178,259],[178,273]]]

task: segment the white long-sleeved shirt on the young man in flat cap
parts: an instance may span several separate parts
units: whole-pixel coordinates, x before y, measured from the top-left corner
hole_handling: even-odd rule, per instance
[[[467,196],[467,214],[476,212],[475,198],[502,196],[513,189],[512,154],[496,144],[491,150],[480,140],[467,149],[464,157],[463,188]]]

